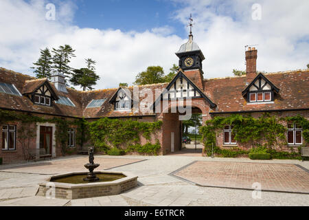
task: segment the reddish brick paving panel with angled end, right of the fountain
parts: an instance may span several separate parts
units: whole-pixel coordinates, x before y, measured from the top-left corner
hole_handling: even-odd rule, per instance
[[[201,186],[301,192],[309,194],[309,173],[295,164],[194,162],[173,173]]]

